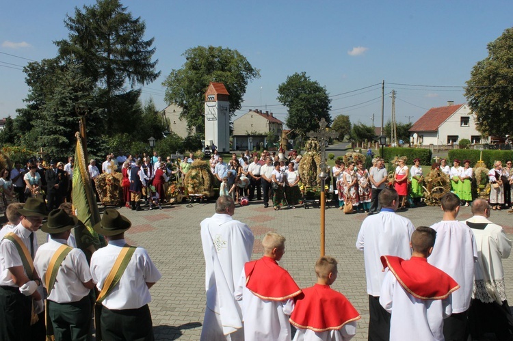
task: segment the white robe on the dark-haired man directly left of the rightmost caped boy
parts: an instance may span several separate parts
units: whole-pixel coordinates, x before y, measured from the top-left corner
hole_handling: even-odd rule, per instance
[[[356,248],[363,251],[367,293],[380,296],[384,272],[381,256],[410,259],[410,240],[415,227],[410,219],[396,215],[389,208],[382,208],[378,215],[365,218],[358,233]]]

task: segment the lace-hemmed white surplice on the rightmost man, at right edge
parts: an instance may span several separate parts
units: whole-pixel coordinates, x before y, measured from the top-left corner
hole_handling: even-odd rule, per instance
[[[486,217],[475,215],[466,221],[487,224],[484,229],[472,228],[479,255],[475,264],[472,297],[484,303],[495,301],[502,305],[506,300],[502,260],[510,256],[511,241],[501,226]]]

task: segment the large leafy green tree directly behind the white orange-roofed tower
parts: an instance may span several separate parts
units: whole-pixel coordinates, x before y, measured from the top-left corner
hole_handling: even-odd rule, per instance
[[[230,115],[241,109],[242,97],[248,82],[260,78],[260,72],[251,66],[239,51],[221,46],[196,46],[183,53],[185,64],[171,70],[162,85],[167,87],[166,103],[183,108],[180,118],[196,131],[205,131],[205,91],[212,81],[224,83],[228,90]]]

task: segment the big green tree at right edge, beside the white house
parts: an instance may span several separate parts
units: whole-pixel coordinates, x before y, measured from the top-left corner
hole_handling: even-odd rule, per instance
[[[488,57],[472,68],[465,96],[481,133],[513,135],[513,27],[487,49]]]

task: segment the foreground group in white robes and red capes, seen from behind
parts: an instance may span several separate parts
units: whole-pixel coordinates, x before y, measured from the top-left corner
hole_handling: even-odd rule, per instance
[[[472,202],[473,217],[458,221],[460,197],[446,193],[443,216],[415,228],[397,215],[395,189],[378,195],[381,210],[367,217],[356,238],[363,251],[369,295],[369,340],[481,340],[495,333],[512,340],[502,259],[512,242],[488,220],[486,200]],[[200,340],[350,340],[360,314],[330,285],[337,260],[321,256],[317,282],[300,288],[278,262],[285,236],[267,232],[263,257],[251,260],[254,236],[233,219],[235,201],[220,196],[215,214],[201,222],[207,307]]]

